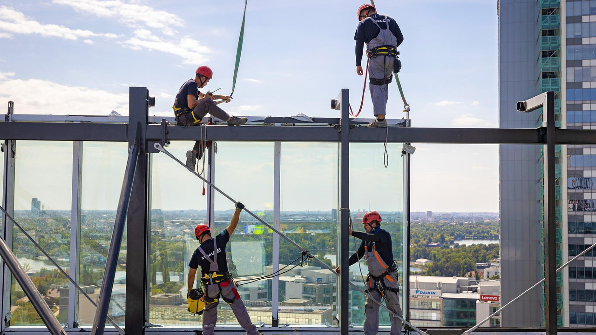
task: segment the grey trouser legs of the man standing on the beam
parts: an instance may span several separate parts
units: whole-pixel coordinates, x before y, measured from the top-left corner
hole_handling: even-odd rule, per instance
[[[374,79],[390,78],[393,75],[393,61],[395,58],[377,55],[370,58],[368,63],[368,77]],[[389,84],[373,85],[368,83],[371,99],[373,100],[373,114],[385,115],[387,99],[389,99]]]

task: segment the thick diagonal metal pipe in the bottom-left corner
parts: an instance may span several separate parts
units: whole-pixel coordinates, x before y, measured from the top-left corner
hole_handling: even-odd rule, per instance
[[[4,212],[4,208],[2,208],[2,211]],[[6,212],[4,213],[5,215],[8,214]],[[37,287],[35,287],[35,284],[33,284],[29,275],[27,275],[23,266],[21,266],[21,263],[18,262],[17,256],[10,250],[10,247],[8,247],[8,244],[6,244],[3,238],[0,238],[0,256],[2,256],[4,263],[10,271],[13,272],[14,278],[20,284],[25,294],[27,294],[27,297],[29,297],[29,301],[32,303],[35,311],[38,312],[45,326],[48,327],[49,332],[52,335],[67,335],[60,322],[54,317],[54,313],[49,309],[48,304],[45,303],[44,297],[39,293]]]

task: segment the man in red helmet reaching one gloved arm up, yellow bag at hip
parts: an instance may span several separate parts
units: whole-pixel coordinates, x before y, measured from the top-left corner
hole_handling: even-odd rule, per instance
[[[244,302],[236,290],[236,283],[228,272],[228,258],[225,248],[229,238],[240,220],[240,212],[244,205],[236,204],[236,210],[232,221],[215,238],[211,235],[211,229],[206,224],[198,224],[194,228],[194,234],[200,246],[193,253],[188,263],[188,291],[194,286],[194,278],[198,266],[201,266],[201,283],[203,284],[205,308],[203,310],[203,335],[212,335],[213,328],[218,321],[219,298],[224,299],[232,308],[240,326],[246,330],[248,335],[259,335],[256,326],[250,321],[249,312],[246,311]]]

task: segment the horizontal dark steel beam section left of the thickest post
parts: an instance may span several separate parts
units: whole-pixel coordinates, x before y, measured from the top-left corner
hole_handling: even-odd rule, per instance
[[[0,138],[41,141],[124,142],[125,123],[0,122]]]

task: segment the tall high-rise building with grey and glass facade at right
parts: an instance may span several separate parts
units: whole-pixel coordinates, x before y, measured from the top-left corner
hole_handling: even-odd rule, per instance
[[[541,126],[541,109],[521,113],[516,103],[546,91],[555,92],[555,125],[596,125],[595,14],[596,2],[587,0],[498,2],[500,128]],[[538,145],[501,145],[499,152],[501,299],[508,302],[544,278],[544,155]],[[596,147],[557,145],[555,156],[559,266],[592,244]],[[557,272],[559,326],[596,324],[592,259]],[[502,325],[544,326],[544,306],[544,290],[533,290],[502,312]]]

